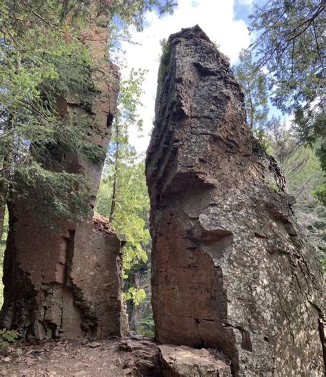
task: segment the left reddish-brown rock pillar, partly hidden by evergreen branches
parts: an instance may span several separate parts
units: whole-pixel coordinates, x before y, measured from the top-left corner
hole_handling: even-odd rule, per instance
[[[103,157],[94,162],[60,150],[50,152],[64,170],[83,171],[91,177],[89,205],[93,207],[116,111],[119,74],[105,57],[107,28],[83,30],[83,36],[91,41],[89,51],[99,65],[92,78],[96,91],[89,93],[87,106],[85,98],[58,98],[58,111],[63,117],[74,113],[74,119],[91,122],[85,137],[102,150]],[[37,205],[46,212],[46,203]],[[53,227],[18,198],[9,205],[9,218],[3,326],[36,339],[121,336],[126,332],[121,242],[107,220],[89,216],[78,225],[57,220]]]

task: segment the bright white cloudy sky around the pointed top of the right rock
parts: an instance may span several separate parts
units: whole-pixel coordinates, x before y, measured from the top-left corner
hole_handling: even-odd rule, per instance
[[[153,127],[157,71],[160,62],[160,40],[179,32],[184,27],[199,25],[211,41],[219,45],[221,52],[230,58],[230,63],[237,62],[241,49],[250,45],[252,36],[248,32],[248,14],[252,9],[252,0],[178,0],[173,14],[161,18],[155,12],[144,15],[144,30],[131,29],[131,38],[137,44],[121,42],[127,67],[122,68],[122,78],[127,78],[129,70],[146,69],[141,101],[143,106],[138,113],[143,119],[143,132],[135,128],[130,130],[130,144],[138,153],[146,151],[150,131]]]

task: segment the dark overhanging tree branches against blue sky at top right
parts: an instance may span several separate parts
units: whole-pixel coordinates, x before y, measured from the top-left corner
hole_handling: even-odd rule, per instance
[[[255,5],[250,30],[258,34],[251,46],[258,65],[272,75],[273,104],[294,113],[301,141],[312,145],[320,140],[317,153],[325,170],[324,8],[324,0],[268,0]]]

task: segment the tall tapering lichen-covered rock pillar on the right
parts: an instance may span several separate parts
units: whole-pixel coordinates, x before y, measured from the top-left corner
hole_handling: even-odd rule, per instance
[[[236,376],[323,374],[323,273],[224,56],[170,36],[146,157],[160,343],[217,347]]]

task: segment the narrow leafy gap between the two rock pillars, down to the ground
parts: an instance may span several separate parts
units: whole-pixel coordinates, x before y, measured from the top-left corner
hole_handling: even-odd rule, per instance
[[[117,130],[118,124],[113,127]],[[115,130],[113,135],[117,135]],[[153,337],[149,195],[144,155],[137,155],[122,139],[118,133],[118,138],[113,137],[109,145],[95,211],[109,218],[113,231],[125,242],[123,294],[129,330],[131,334]]]

